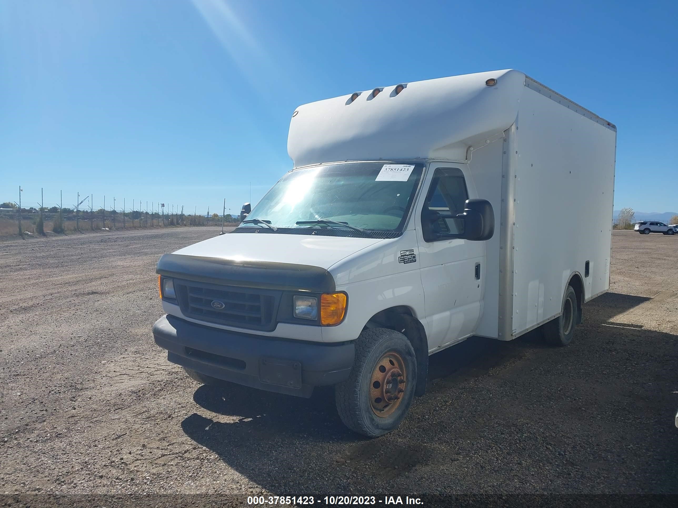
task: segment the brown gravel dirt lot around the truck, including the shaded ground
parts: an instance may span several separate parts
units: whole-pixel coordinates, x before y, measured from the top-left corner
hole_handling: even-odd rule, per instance
[[[614,232],[610,293],[572,345],[437,354],[370,441],[331,390],[199,386],[154,345],[157,259],[215,233],[0,244],[0,494],[678,494],[677,237]]]

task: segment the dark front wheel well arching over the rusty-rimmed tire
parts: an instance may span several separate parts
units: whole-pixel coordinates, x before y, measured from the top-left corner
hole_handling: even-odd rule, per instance
[[[374,314],[365,324],[365,328],[387,328],[407,337],[417,357],[417,385],[414,394],[424,395],[428,377],[428,339],[424,325],[414,316],[412,309],[406,305],[384,309]]]

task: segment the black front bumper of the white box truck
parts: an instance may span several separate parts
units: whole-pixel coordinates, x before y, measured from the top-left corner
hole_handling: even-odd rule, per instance
[[[240,385],[310,397],[313,387],[348,379],[353,342],[309,343],[245,335],[163,316],[153,325],[167,360]]]

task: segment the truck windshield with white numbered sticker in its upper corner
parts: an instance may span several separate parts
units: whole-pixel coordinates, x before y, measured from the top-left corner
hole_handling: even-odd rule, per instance
[[[247,216],[252,222],[241,227],[260,228],[254,220],[258,219],[276,228],[400,231],[423,168],[423,164],[344,163],[290,171],[252,209]]]

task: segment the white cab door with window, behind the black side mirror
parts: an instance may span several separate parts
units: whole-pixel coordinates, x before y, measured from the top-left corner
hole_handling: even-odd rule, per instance
[[[431,165],[417,208],[417,238],[430,352],[472,335],[481,316],[485,274],[485,242],[454,238],[463,227],[458,219],[437,215],[464,212],[475,198],[466,165]],[[444,234],[446,237],[440,237]]]

